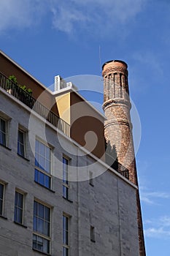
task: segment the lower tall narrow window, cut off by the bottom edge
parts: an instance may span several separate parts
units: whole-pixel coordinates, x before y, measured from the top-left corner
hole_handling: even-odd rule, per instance
[[[69,256],[69,217],[63,214],[63,256]]]

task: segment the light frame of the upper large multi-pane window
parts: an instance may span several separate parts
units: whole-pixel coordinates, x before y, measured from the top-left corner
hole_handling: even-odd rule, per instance
[[[39,161],[38,159],[36,159],[36,154],[39,157],[39,152],[36,152],[36,142],[41,143],[42,145],[45,146],[45,152],[46,152],[46,147],[50,149],[50,159],[47,159],[46,156],[42,156],[44,159],[47,159],[50,162],[50,172],[47,172],[47,170],[44,170],[43,168],[39,167]],[[35,140],[35,162],[34,162],[34,181],[37,184],[40,184],[42,187],[45,187],[47,189],[51,189],[52,188],[52,151],[53,148],[51,146],[49,146],[47,143],[43,142],[42,140],[40,140],[39,138],[36,138]],[[46,153],[45,153],[46,154]],[[41,155],[40,155],[41,156]],[[38,163],[38,165],[36,165],[36,162]],[[40,182],[40,176],[43,176],[43,183]],[[37,180],[36,180],[36,176],[37,176]],[[50,183],[50,186],[46,186],[46,177],[49,178],[49,181],[47,183]]]

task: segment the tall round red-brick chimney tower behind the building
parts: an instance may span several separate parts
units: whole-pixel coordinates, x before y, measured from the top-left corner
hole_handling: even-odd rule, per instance
[[[112,148],[115,147],[117,162],[128,170],[130,181],[138,186],[130,116],[128,65],[124,61],[107,61],[102,69],[104,77],[103,109],[107,118],[107,121],[104,122],[104,136],[107,143]],[[144,256],[146,254],[138,190],[136,191],[136,206],[138,212],[139,255]]]

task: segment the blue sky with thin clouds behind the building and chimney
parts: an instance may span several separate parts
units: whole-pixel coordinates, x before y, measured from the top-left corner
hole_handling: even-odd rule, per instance
[[[55,75],[101,75],[99,45],[101,64],[128,63],[131,99],[142,125],[136,161],[150,256],[170,255],[169,13],[169,0],[1,0],[0,5],[1,50],[45,86]]]

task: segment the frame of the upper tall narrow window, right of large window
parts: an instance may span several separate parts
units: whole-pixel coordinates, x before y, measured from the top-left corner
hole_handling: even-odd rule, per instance
[[[64,162],[63,162],[63,160],[66,160],[66,162],[67,162],[67,164],[65,164]],[[63,167],[63,197],[65,198],[65,199],[67,199],[67,200],[69,200],[70,199],[70,181],[69,181],[69,175],[70,175],[70,158],[69,157],[66,157],[65,155],[63,155],[63,158],[62,158],[62,162],[63,162],[63,165],[62,165],[62,167]],[[65,168],[64,168],[64,166],[67,166],[67,170],[66,170],[66,172],[65,172]],[[67,174],[66,175],[66,178],[68,178],[68,179],[65,179],[64,177],[65,177],[65,173]],[[65,192],[65,189],[66,189],[66,192]]]

